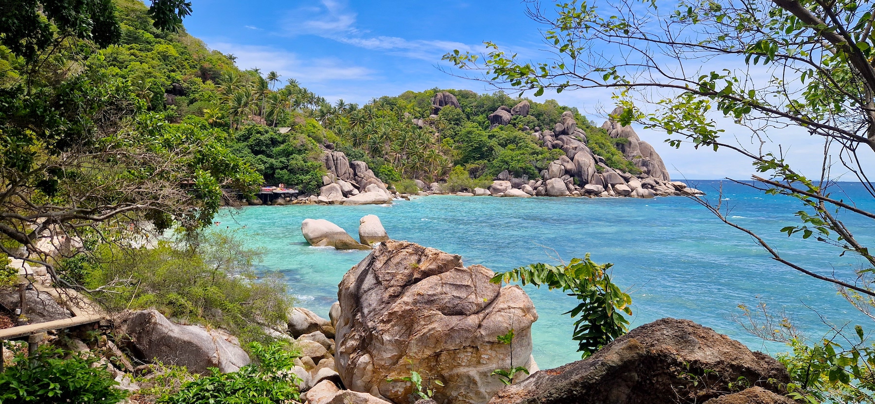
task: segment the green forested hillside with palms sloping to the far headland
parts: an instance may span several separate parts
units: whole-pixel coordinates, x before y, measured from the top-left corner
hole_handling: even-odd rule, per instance
[[[229,149],[261,174],[264,184],[318,192],[325,171],[321,158],[332,149],[366,162],[387,184],[402,179],[428,184],[451,174],[456,182],[491,180],[505,170],[539,178],[564,153],[534,133],[553,129],[564,111],[573,114],[585,134],[578,138],[606,166],[641,173],[620,151],[627,139],[608,136],[577,108],[556,101],[528,100],[526,114],[507,114],[509,121],[500,125],[492,124],[490,115],[502,106],[509,112],[507,107],[523,99],[435,88],[365,105],[331,104],[295,78],[239,69],[234,55],[211,51],[185,31],[158,31],[142,3],[116,4],[122,40],[95,55],[95,63],[125,80],[146,108],[168,122],[226,132]],[[436,106],[443,94],[453,101]]]

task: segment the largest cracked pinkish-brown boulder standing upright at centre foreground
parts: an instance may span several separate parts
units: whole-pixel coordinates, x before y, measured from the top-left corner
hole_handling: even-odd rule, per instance
[[[444,383],[437,402],[488,401],[503,386],[490,373],[509,367],[511,355],[497,337],[514,329],[514,366],[532,368],[537,319],[520,287],[502,288],[492,276],[407,241],[376,247],[339,284],[335,365],[344,385],[409,404],[411,386],[398,379],[412,369]]]

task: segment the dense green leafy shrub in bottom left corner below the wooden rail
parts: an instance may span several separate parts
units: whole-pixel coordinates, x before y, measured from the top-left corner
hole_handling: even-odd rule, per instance
[[[22,350],[24,351],[24,350]],[[0,373],[0,403],[115,404],[127,393],[105,368],[92,367],[96,359],[82,359],[51,345],[42,345],[35,356],[23,352]]]

